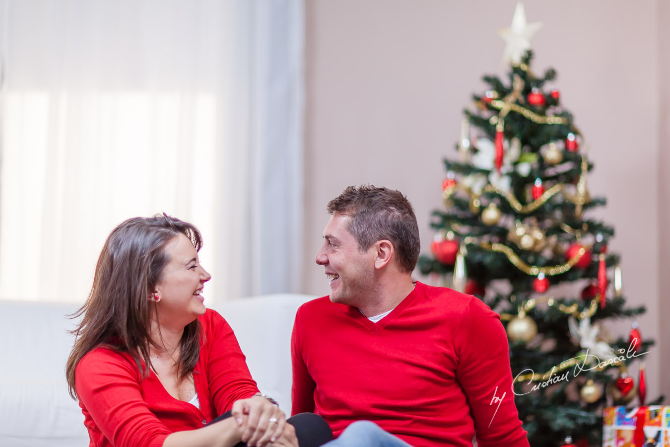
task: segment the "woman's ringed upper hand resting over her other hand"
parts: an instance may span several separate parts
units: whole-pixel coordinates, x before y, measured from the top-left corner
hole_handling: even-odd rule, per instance
[[[249,447],[263,447],[268,442],[279,440],[287,425],[284,412],[261,396],[235,401],[231,413],[243,430],[242,441]],[[246,423],[243,418],[245,415],[248,415]]]

